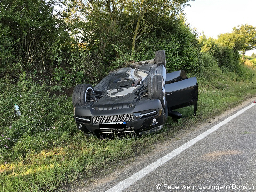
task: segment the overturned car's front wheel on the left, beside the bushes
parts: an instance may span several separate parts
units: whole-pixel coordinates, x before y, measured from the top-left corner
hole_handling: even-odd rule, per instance
[[[93,86],[90,84],[77,85],[72,93],[73,107],[77,105],[83,105],[86,102],[91,101],[91,93],[94,93]]]

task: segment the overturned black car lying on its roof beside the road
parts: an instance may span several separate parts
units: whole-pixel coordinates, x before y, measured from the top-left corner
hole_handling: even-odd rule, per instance
[[[167,116],[180,118],[173,110],[194,105],[198,84],[183,70],[166,74],[165,51],[155,58],[110,72],[93,87],[79,84],[72,95],[78,129],[98,138],[159,130]]]

